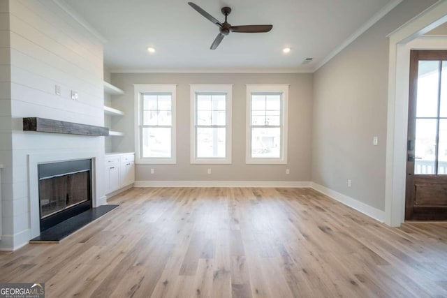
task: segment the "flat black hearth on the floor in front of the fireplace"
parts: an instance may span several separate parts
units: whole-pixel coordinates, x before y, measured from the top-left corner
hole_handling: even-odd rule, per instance
[[[92,221],[100,218],[104,214],[108,213],[108,211],[112,211],[119,205],[101,205],[97,208],[92,208],[87,211],[78,214],[77,216],[73,216],[68,218],[66,221],[62,221],[54,227],[49,228],[41,232],[41,235],[31,239],[29,243],[43,243],[43,242],[59,242],[69,234],[79,230],[85,225],[88,225]]]

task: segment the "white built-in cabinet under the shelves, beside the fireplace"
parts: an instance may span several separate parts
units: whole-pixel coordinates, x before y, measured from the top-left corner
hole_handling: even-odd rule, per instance
[[[105,193],[112,193],[135,182],[135,155],[105,155]]]

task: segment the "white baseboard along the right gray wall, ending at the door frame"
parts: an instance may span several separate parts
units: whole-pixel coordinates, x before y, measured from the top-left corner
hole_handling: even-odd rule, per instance
[[[332,189],[314,182],[311,182],[311,187],[314,188],[314,190],[327,195],[329,198],[332,198],[345,204],[346,206],[351,207],[352,209],[362,212],[362,214],[374,218],[376,221],[380,221],[381,223],[385,222],[385,211],[371,207],[368,204],[360,202],[359,200],[353,199],[342,193],[337,193],[337,191],[332,191]]]

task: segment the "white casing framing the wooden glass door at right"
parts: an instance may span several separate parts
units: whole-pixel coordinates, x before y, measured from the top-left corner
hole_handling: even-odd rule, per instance
[[[385,223],[404,222],[406,137],[408,126],[410,50],[447,50],[447,38],[424,36],[447,22],[447,0],[439,0],[388,35],[388,117],[386,136]]]

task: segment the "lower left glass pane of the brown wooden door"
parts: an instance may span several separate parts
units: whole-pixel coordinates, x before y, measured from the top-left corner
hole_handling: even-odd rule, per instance
[[[414,174],[435,173],[436,133],[437,119],[416,119]]]

